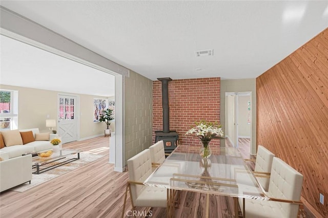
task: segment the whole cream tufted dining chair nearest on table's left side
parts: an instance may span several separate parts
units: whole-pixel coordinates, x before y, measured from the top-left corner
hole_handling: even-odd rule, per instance
[[[122,217],[128,191],[132,210],[134,207],[167,207],[167,189],[145,186],[143,182],[152,174],[150,151],[146,149],[128,160],[129,181],[127,183]]]

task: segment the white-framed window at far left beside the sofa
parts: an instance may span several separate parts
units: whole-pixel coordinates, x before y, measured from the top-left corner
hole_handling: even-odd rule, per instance
[[[18,91],[0,89],[0,130],[18,127]]]

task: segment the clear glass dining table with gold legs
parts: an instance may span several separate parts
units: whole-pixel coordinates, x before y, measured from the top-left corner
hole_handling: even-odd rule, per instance
[[[210,195],[234,198],[234,215],[238,217],[238,199],[244,213],[244,199],[269,200],[256,177],[236,148],[211,147],[209,158],[199,155],[201,147],[180,145],[144,182],[168,189],[168,217],[174,217],[177,190],[206,194],[206,217]]]

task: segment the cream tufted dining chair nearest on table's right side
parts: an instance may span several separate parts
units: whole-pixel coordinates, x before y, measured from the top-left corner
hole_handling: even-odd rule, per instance
[[[303,176],[293,167],[274,157],[271,168],[269,201],[245,199],[245,217],[297,217],[302,191]],[[241,203],[242,199],[239,199]],[[240,205],[242,207],[242,205]]]

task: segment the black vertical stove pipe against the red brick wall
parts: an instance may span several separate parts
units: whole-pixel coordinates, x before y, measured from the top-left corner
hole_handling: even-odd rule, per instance
[[[171,78],[157,78],[162,82],[163,133],[170,133],[169,81]]]

